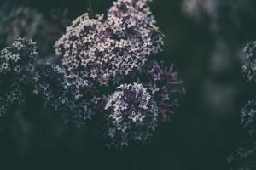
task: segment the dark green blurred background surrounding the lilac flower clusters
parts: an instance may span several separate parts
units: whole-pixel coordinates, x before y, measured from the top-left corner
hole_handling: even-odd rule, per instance
[[[112,2],[91,0],[90,6],[94,13],[106,14]],[[1,48],[8,43],[3,41],[4,30],[14,29],[7,26],[6,16],[20,6],[33,10],[28,23],[38,21],[36,28],[43,31],[38,36],[28,29],[32,26],[27,30],[30,36],[38,36],[39,46],[39,42],[46,45],[42,54],[50,56],[64,31],[62,24],[88,11],[89,3],[0,0]],[[256,1],[154,0],[150,8],[166,35],[164,51],[157,57],[175,64],[187,89],[171,122],[160,125],[144,147],[108,150],[93,126],[66,127],[58,115],[42,110],[38,99],[31,99],[8,117],[0,133],[0,169],[228,169],[227,156],[247,142],[240,111],[255,88],[242,77],[241,65],[243,47],[256,40]],[[63,20],[51,14],[61,14]]]

